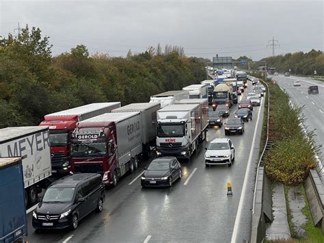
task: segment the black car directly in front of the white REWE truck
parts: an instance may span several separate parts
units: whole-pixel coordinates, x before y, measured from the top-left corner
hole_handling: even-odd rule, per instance
[[[176,157],[159,157],[153,159],[141,176],[141,186],[171,187],[174,181],[181,179],[183,171]]]

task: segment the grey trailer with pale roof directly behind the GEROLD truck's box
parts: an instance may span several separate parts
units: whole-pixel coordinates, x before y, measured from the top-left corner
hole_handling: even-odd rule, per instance
[[[155,149],[157,142],[157,111],[161,109],[160,103],[132,103],[124,105],[120,108],[112,110],[116,112],[139,112],[141,114],[141,125],[143,126],[141,133],[143,141],[143,155],[147,159],[150,152]]]

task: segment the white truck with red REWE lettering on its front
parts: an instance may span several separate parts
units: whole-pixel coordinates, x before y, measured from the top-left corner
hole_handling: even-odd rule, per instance
[[[157,157],[175,156],[190,159],[206,138],[202,131],[202,105],[168,105],[157,112]]]

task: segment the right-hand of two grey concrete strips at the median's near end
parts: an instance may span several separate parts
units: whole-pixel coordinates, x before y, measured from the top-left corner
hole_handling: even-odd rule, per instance
[[[301,209],[305,207],[306,203],[300,186],[289,188],[288,202],[291,211],[291,221],[295,225],[294,230],[299,238],[305,238],[307,235],[302,226],[306,224],[307,218],[302,214]]]

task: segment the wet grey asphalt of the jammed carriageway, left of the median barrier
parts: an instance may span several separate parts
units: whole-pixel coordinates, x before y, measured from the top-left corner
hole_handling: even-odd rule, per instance
[[[191,161],[181,162],[183,178],[172,188],[141,188],[140,176],[149,161],[141,163],[137,173],[122,178],[116,188],[107,188],[103,212],[87,216],[75,231],[36,233],[28,214],[27,240],[33,243],[248,240],[264,103],[262,98],[262,105],[254,107],[253,120],[245,123],[243,135],[229,136],[235,146],[232,167],[205,167],[204,147],[214,138],[225,137],[224,127],[210,128],[206,141]],[[237,105],[232,107],[230,116],[235,110]],[[232,183],[233,196],[226,196],[228,181]]]

